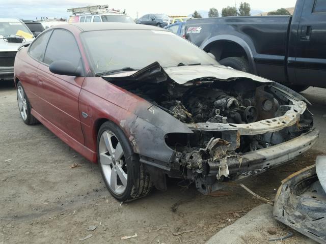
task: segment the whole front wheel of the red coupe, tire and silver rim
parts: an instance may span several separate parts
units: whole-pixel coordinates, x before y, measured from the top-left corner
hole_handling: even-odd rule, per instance
[[[98,131],[97,159],[106,188],[117,200],[132,201],[152,190],[145,165],[133,153],[122,130],[111,121],[106,121]]]

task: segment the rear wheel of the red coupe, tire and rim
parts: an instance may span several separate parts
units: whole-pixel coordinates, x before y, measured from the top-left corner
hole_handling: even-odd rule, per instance
[[[31,114],[31,103],[20,81],[17,83],[17,101],[20,117],[26,125],[35,125],[39,121]]]

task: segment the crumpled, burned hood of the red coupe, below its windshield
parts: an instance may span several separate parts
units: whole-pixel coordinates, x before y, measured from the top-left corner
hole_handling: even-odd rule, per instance
[[[181,85],[186,84],[189,81],[200,81],[203,79],[213,82],[216,80],[232,81],[240,78],[247,78],[261,83],[273,82],[256,75],[234,70],[225,66],[185,65],[163,68],[158,62],[154,62],[153,64],[139,71],[108,74],[102,77],[113,82],[119,80],[148,80],[154,83],[166,81],[168,78],[170,78],[172,81]]]

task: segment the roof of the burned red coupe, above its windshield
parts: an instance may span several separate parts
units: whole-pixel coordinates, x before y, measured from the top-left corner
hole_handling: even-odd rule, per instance
[[[97,22],[97,23],[69,23],[78,27],[82,32],[90,31],[104,31],[104,30],[113,30],[113,29],[148,29],[153,31],[165,31],[160,27],[145,25],[145,24],[134,24],[134,23],[118,23],[118,22]],[[60,25],[64,28],[65,25]],[[59,27],[56,26],[56,27]]]

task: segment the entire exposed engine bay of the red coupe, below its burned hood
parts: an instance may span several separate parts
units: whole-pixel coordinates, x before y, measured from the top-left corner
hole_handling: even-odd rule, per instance
[[[279,103],[268,92],[268,85],[257,86],[249,80],[218,85],[219,82],[197,86],[143,83],[129,90],[183,123],[246,124],[275,117]]]

